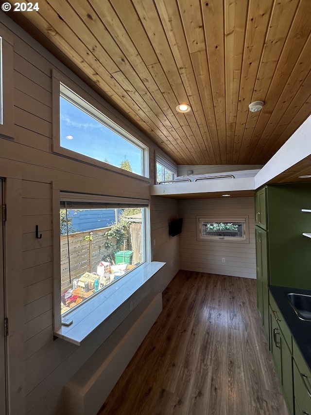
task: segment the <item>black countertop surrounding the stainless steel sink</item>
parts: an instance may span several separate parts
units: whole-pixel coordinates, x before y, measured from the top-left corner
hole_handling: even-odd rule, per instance
[[[310,289],[269,286],[270,292],[282,313],[285,323],[290,329],[293,340],[296,342],[302,356],[311,370],[311,322],[299,319],[287,298],[287,294],[311,295]]]

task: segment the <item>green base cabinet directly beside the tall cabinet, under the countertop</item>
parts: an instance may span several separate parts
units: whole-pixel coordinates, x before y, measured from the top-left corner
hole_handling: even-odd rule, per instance
[[[269,307],[270,350],[289,414],[294,415],[292,336],[287,327],[283,327],[284,333],[281,330],[279,321],[283,321],[282,316],[279,310],[274,308],[271,305]],[[285,339],[290,339],[290,344]]]

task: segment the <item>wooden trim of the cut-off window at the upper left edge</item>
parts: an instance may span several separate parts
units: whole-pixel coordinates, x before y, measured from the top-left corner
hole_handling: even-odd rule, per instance
[[[13,37],[0,24],[2,38],[2,108],[0,116],[0,136],[14,138],[14,77],[13,77]],[[0,66],[1,70],[1,66]],[[0,79],[1,82],[1,79]]]

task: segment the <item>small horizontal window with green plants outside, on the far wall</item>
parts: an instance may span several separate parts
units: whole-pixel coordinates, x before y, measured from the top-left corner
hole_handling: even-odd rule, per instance
[[[197,217],[198,239],[248,243],[248,216]]]

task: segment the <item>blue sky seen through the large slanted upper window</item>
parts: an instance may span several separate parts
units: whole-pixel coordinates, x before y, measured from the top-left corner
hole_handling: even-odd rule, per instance
[[[134,144],[86,114],[81,109],[60,98],[60,145],[93,159],[120,167],[129,160],[134,173],[141,174],[141,150]],[[73,137],[68,140],[66,137]]]

